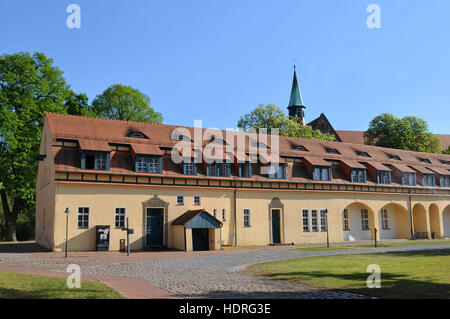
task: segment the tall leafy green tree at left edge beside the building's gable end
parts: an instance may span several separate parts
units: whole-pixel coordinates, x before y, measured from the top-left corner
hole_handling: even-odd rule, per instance
[[[63,72],[43,53],[0,57],[0,189],[8,240],[16,240],[20,212],[33,207],[46,111],[66,113]]]

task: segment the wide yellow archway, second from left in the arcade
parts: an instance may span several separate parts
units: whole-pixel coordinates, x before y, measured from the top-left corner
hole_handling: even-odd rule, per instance
[[[399,204],[387,204],[379,213],[380,239],[408,239],[411,227],[408,210]]]

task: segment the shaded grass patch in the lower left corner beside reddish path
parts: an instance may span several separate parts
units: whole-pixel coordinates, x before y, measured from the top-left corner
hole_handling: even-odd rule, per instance
[[[120,299],[107,285],[81,281],[81,288],[69,289],[66,278],[0,273],[0,299]]]

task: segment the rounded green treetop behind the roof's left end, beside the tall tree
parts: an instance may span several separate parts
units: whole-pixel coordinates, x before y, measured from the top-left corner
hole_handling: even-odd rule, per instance
[[[92,110],[101,118],[123,121],[161,123],[161,113],[150,107],[150,98],[144,93],[122,84],[114,84],[97,95]]]

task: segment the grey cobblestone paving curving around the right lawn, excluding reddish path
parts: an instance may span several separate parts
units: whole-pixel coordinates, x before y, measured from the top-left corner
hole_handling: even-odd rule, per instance
[[[450,245],[402,246],[331,251],[257,250],[196,258],[85,265],[84,274],[135,277],[184,298],[364,298],[314,290],[303,285],[246,274],[247,265],[312,256],[450,248]]]

